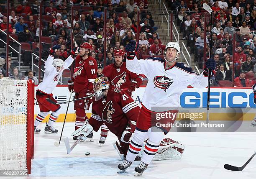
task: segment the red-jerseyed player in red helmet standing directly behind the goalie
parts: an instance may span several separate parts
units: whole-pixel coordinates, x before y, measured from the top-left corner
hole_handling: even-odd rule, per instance
[[[131,96],[131,92],[140,87],[143,82],[143,77],[139,74],[132,73],[126,68],[125,62],[123,62],[125,51],[123,49],[114,50],[115,62],[106,66],[102,72],[105,77],[108,77],[110,85],[118,87],[124,90]],[[108,128],[105,124],[101,127],[100,141],[99,143],[105,143],[108,136]]]

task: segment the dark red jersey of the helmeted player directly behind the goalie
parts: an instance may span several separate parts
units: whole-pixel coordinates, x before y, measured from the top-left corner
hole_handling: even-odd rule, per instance
[[[120,67],[117,67],[115,64],[106,66],[102,74],[104,74],[105,77],[108,77],[111,85],[124,90],[128,94],[130,94],[130,92],[128,92],[128,87],[132,80],[137,82],[137,88],[140,87],[143,82],[143,77],[140,74],[130,72],[126,68],[125,62],[123,62]]]

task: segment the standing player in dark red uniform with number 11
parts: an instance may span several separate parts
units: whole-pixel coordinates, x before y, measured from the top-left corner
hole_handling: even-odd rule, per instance
[[[90,56],[92,49],[92,45],[87,42],[82,43],[79,47],[79,54],[75,59],[73,80],[68,82],[69,91],[73,90],[75,92],[75,99],[86,97],[93,92],[93,82],[97,78],[97,61]],[[74,110],[76,110],[75,130],[88,119],[85,107],[89,107],[90,102],[91,99],[74,102]],[[77,138],[74,137],[74,140],[77,140]]]

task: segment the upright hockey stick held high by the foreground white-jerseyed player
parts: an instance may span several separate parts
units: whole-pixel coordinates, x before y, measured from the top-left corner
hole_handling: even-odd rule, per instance
[[[210,16],[211,16],[211,20],[210,20],[210,26],[211,26],[211,31],[210,31],[210,52],[209,52],[209,58],[211,58],[212,55],[212,8],[210,8],[209,5],[207,4],[203,4],[203,9],[206,10]],[[206,60],[205,60],[206,61]],[[211,75],[212,75],[212,69],[209,69],[209,73],[208,73],[208,91],[207,91],[207,117],[206,117],[206,123],[209,123],[209,110],[210,110],[210,80],[211,80]],[[207,125],[208,126],[208,125]]]

